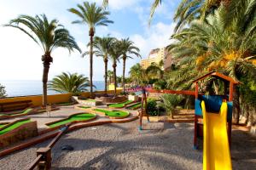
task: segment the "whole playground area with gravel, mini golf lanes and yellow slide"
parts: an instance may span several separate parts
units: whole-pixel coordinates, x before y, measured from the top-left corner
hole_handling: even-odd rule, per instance
[[[224,94],[201,94],[199,83],[207,77],[224,81]],[[205,170],[255,167],[256,138],[245,128],[232,127],[233,87],[238,82],[210,72],[194,83],[195,92],[148,90],[156,94],[195,96],[192,120],[177,118],[191,116],[191,111],[183,110],[172,116],[171,121],[162,119],[167,116],[152,121],[152,117],[159,116],[149,116],[147,105],[152,106],[149,104],[152,99],[147,98],[144,88],[140,99],[134,101],[128,97],[109,105],[98,99],[79,99],[82,102],[78,104],[50,105],[44,112],[31,107],[21,114],[11,113],[12,117],[3,113],[0,163],[4,169],[20,169],[20,166],[24,169],[37,166],[46,169],[203,167]],[[84,101],[92,104],[84,105]],[[24,138],[16,141],[20,135]],[[16,161],[20,164],[12,163]]]

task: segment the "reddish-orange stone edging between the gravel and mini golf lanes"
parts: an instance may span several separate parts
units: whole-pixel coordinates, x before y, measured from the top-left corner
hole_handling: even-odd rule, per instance
[[[108,123],[125,123],[125,122],[131,122],[134,121],[138,118],[138,116],[131,117],[130,119],[125,119],[125,120],[107,120],[107,121],[99,121],[99,122],[86,122],[86,123],[75,123],[71,125],[71,127],[68,128],[67,132],[71,132],[73,130],[83,128],[83,127],[93,127],[93,126],[99,126],[103,124],[108,124]],[[37,137],[34,137],[33,139],[29,139],[28,141],[25,141],[21,144],[16,144],[12,147],[9,147],[8,149],[1,150],[0,151],[0,156],[6,156],[9,155],[10,153],[13,153],[18,150],[25,149],[29,146],[32,146],[34,144],[39,144],[42,143],[48,139],[54,138],[59,131],[49,128],[47,129],[48,132],[45,131],[45,133],[38,133],[39,135]]]

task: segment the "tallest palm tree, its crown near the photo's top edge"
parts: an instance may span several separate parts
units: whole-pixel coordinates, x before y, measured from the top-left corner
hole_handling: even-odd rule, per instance
[[[78,9],[70,8],[69,12],[79,16],[81,20],[73,21],[73,24],[86,24],[89,27],[90,36],[90,98],[92,98],[92,65],[93,65],[93,37],[95,34],[96,26],[108,26],[113,23],[112,20],[108,20],[108,11],[105,11],[101,7],[97,7],[96,3],[84,2],[83,5],[78,4]]]

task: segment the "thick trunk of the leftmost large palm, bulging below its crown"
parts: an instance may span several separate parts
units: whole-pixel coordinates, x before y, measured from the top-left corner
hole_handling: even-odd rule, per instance
[[[49,73],[49,65],[53,61],[52,57],[49,54],[44,54],[42,56],[42,61],[44,65],[43,71],[43,106],[47,105],[47,82],[48,82],[48,73]]]

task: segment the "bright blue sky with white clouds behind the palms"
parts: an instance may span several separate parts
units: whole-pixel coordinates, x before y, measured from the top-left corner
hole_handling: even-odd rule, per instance
[[[76,38],[79,47],[86,50],[89,42],[88,27],[73,25],[71,22],[77,17],[67,8],[75,8],[81,0],[0,0],[0,25],[7,24],[9,20],[19,14],[46,14],[48,18],[58,19]],[[102,5],[102,0],[90,0]],[[111,12],[109,19],[114,21],[108,27],[96,27],[96,36],[130,37],[138,48],[141,49],[143,58],[148,56],[150,49],[161,48],[171,41],[175,23],[172,21],[173,14],[180,0],[166,0],[157,9],[152,25],[148,27],[148,16],[152,0],[109,0],[108,10]],[[41,80],[43,65],[41,56],[43,52],[38,45],[27,37],[23,32],[10,27],[0,27],[1,47],[1,80]],[[89,59],[81,58],[75,52],[68,54],[67,50],[59,48],[52,54],[53,64],[50,66],[49,79],[62,71],[79,72],[89,77]],[[131,65],[140,59],[130,59],[127,62],[126,74]],[[109,63],[109,70],[112,69]],[[118,76],[122,74],[122,64],[119,63]],[[102,59],[94,59],[94,80],[103,80]]]

